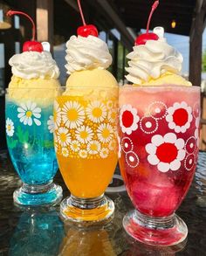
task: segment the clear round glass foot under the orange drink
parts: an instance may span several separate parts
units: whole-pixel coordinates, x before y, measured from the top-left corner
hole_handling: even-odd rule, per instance
[[[62,218],[82,225],[106,224],[113,218],[113,201],[104,195],[94,198],[67,197],[60,204]]]

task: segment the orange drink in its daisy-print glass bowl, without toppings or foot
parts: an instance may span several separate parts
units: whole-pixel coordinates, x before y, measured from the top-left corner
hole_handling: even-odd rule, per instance
[[[72,90],[75,94],[59,96],[55,103],[65,120],[55,132],[58,165],[73,196],[100,197],[117,164],[118,91],[108,87],[78,90],[80,95]]]

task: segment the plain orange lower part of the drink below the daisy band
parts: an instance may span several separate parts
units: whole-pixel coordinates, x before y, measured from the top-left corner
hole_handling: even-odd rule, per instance
[[[115,154],[100,159],[73,159],[58,156],[58,165],[66,186],[75,197],[99,197],[106,190],[117,164]],[[110,166],[110,168],[108,168]],[[84,169],[83,169],[84,168]]]

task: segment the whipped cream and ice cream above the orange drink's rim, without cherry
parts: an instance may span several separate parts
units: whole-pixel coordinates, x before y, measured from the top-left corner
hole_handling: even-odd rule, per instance
[[[100,38],[88,36],[72,36],[66,43],[68,88],[89,87],[115,87],[117,81],[106,68],[112,63],[112,56],[108,47]],[[68,93],[68,90],[65,91]]]

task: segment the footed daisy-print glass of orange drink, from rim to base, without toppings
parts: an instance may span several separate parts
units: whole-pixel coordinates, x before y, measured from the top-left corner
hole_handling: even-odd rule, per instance
[[[65,219],[93,224],[113,216],[104,196],[117,156],[118,88],[64,88],[54,103],[58,165],[71,197],[61,203]]]

